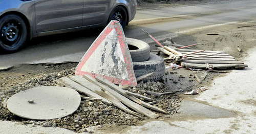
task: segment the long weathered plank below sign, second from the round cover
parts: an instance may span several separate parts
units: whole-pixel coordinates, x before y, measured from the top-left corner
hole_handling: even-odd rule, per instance
[[[88,81],[87,79],[81,77],[81,76],[73,76],[71,77],[73,80],[75,80],[76,82],[78,82],[79,84],[81,84],[82,86],[86,86],[89,87],[90,90],[93,90],[94,92],[96,92],[97,94],[101,95],[102,97],[108,99],[109,101],[111,101],[113,103],[114,106],[119,107],[120,109],[126,111],[127,113],[130,113],[132,115],[136,115],[137,114],[134,111],[131,111],[129,108],[127,108],[125,105],[123,105],[116,97],[114,97],[112,94],[110,94],[109,92],[103,92],[101,90],[101,88],[95,84],[93,84],[92,82]],[[110,94],[110,95],[109,95]]]

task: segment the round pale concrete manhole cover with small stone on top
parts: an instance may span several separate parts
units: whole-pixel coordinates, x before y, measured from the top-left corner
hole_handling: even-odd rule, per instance
[[[50,120],[73,114],[80,102],[79,93],[71,88],[40,86],[13,95],[7,108],[19,117]]]

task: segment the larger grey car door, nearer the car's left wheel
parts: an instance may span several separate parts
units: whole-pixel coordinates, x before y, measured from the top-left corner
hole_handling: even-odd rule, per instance
[[[84,0],[35,0],[36,32],[82,26]]]

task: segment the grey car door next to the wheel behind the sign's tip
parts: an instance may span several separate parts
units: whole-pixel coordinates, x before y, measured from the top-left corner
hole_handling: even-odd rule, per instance
[[[110,11],[112,0],[84,0],[83,26],[100,24]]]

